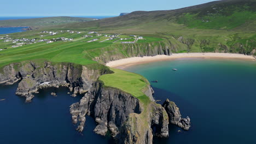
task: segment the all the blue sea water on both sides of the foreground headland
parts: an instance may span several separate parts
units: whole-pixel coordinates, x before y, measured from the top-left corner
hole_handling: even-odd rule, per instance
[[[173,71],[172,68],[177,68]],[[256,62],[183,59],[135,65],[126,70],[152,83],[154,97],[173,100],[191,118],[189,131],[170,127],[170,138],[154,143],[256,143]],[[15,95],[17,84],[0,86],[0,143],[112,143],[96,135],[86,119],[83,135],[75,131],[67,88],[40,91],[32,103]],[[57,97],[50,95],[56,92]]]

